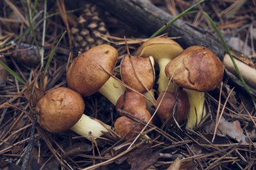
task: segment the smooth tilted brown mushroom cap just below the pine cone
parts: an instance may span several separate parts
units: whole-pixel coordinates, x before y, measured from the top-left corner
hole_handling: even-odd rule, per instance
[[[67,71],[67,84],[83,96],[92,95],[108,81],[117,62],[118,52],[113,46],[99,45],[80,54]],[[104,70],[102,69],[104,68]]]

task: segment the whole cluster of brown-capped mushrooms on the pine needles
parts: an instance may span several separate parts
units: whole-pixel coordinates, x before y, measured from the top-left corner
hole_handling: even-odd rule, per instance
[[[89,140],[108,132],[110,126],[84,114],[82,97],[96,91],[116,105],[117,112],[124,110],[143,122],[153,123],[153,105],[162,122],[181,124],[187,120],[187,128],[194,128],[206,114],[204,92],[218,87],[224,73],[222,62],[210,49],[191,46],[183,50],[168,38],[152,38],[135,56],[125,54],[120,64],[121,79],[112,75],[118,57],[118,51],[106,44],[79,54],[67,71],[69,88],[53,89],[38,101],[42,128],[49,132],[71,129]],[[159,67],[158,98],[151,95],[152,104],[148,105],[146,96],[155,81],[154,62]],[[167,88],[169,81],[172,85]],[[120,116],[115,131],[130,140],[144,127],[138,123]]]

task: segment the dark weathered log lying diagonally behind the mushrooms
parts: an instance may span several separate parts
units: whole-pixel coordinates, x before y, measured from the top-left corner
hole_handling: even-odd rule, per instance
[[[172,15],[159,9],[148,0],[90,1],[147,36],[154,34],[154,32],[173,18]],[[181,19],[174,22],[164,32],[168,32],[168,36],[181,36],[181,38],[175,41],[185,48],[194,45],[205,46],[213,50],[220,59],[225,54],[225,50],[215,34],[193,26]]]

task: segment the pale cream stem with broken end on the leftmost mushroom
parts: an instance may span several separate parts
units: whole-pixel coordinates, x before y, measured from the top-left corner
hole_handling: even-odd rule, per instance
[[[83,114],[82,117],[78,120],[78,122],[70,129],[76,132],[77,134],[94,141],[93,138],[96,139],[102,136],[102,132],[108,132],[107,128],[110,128],[110,126],[106,124],[104,124],[103,126],[102,124],[90,118],[89,116]]]

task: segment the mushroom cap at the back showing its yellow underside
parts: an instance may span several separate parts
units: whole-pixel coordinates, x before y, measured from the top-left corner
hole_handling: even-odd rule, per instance
[[[160,58],[174,58],[183,52],[183,48],[169,38],[152,38],[144,42],[136,52],[137,56],[153,56]]]

